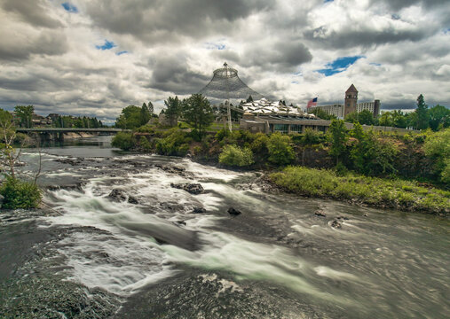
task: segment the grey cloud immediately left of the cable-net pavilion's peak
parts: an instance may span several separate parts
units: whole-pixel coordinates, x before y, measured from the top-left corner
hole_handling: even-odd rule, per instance
[[[186,67],[186,59],[178,57],[163,57],[151,61],[153,70],[152,82],[149,88],[173,92],[177,95],[191,94],[200,91],[210,78]]]

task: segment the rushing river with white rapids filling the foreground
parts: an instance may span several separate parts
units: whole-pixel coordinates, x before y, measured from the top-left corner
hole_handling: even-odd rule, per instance
[[[0,317],[450,316],[448,220],[268,193],[257,173],[109,138],[43,149],[45,208],[0,213]]]

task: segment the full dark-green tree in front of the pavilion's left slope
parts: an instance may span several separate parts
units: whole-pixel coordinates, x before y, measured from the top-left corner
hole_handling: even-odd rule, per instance
[[[198,131],[199,136],[214,121],[211,105],[201,94],[193,94],[183,101],[183,117]]]

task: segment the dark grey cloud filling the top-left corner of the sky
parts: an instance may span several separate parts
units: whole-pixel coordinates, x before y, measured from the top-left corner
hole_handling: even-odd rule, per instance
[[[57,19],[48,15],[49,8],[43,0],[0,0],[0,8],[17,14],[21,20],[36,27],[62,27]]]

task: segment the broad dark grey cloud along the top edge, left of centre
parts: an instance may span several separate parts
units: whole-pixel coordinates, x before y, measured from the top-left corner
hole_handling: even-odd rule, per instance
[[[274,0],[122,0],[89,1],[93,23],[114,33],[141,40],[167,42],[232,30],[238,19],[272,8]],[[224,25],[226,27],[224,27]]]

